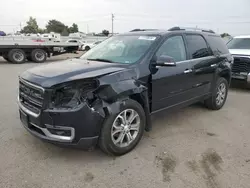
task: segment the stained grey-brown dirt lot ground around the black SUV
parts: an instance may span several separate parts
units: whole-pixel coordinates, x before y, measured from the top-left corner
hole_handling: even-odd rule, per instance
[[[0,59],[1,188],[249,187],[250,90],[231,89],[220,111],[194,105],[158,114],[134,151],[112,158],[98,149],[58,148],[24,130],[17,76],[34,66]]]

